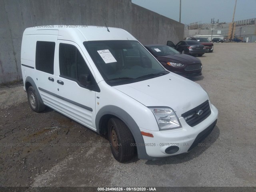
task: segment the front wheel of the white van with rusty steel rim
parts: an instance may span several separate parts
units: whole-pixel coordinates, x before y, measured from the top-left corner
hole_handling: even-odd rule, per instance
[[[129,128],[117,118],[108,121],[108,140],[114,158],[119,162],[131,160],[135,154],[135,141]]]

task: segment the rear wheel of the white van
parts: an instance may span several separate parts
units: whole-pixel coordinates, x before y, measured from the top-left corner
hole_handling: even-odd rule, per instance
[[[36,91],[32,86],[30,86],[27,90],[27,95],[28,95],[28,103],[30,105],[30,108],[34,112],[42,112],[45,109],[44,103],[42,103],[38,95],[36,94]]]

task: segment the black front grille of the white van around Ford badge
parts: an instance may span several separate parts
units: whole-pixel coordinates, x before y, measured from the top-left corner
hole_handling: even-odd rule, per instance
[[[203,113],[201,115],[198,115],[198,111],[203,110]],[[209,105],[209,101],[205,101],[199,106],[195,107],[192,110],[187,111],[186,113],[182,114],[181,116],[185,119],[186,123],[194,127],[203,120],[205,120],[209,115],[211,114],[211,108]]]

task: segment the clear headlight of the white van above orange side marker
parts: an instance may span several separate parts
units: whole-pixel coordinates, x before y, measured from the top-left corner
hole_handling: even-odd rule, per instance
[[[180,128],[180,122],[172,108],[149,107],[158,123],[159,130]]]

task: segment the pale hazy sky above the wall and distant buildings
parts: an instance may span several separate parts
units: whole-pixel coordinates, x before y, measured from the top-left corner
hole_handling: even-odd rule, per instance
[[[181,22],[210,23],[211,18],[219,22],[232,22],[236,0],[181,0]],[[132,0],[142,6],[179,21],[180,0]],[[237,0],[234,20],[256,18],[256,0]]]

